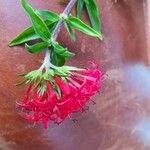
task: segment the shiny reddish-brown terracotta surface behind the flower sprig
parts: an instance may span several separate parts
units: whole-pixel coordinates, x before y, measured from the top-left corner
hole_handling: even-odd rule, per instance
[[[62,12],[56,0],[29,0],[35,8]],[[57,126],[33,127],[21,119],[15,101],[23,89],[17,73],[38,68],[43,55],[28,54],[8,41],[29,25],[18,0],[0,0],[0,150],[149,150],[150,70],[146,49],[143,0],[97,0],[101,9],[103,42],[77,32],[71,43],[62,30],[58,40],[76,52],[68,64],[97,61],[108,74],[100,95],[86,113]],[[83,19],[86,18],[83,16]]]

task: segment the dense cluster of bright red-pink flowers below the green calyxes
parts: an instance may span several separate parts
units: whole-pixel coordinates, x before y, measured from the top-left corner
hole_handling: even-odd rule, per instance
[[[100,88],[101,72],[96,64],[91,69],[71,71],[66,81],[54,76],[54,81],[61,91],[58,97],[48,80],[45,81],[45,91],[39,96],[38,90],[30,84],[23,102],[17,102],[17,107],[23,109],[21,116],[27,120],[42,121],[47,128],[48,121],[61,123],[73,112],[83,110],[88,102]]]

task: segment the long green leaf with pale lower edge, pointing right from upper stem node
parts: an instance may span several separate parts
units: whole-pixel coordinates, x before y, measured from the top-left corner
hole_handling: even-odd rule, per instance
[[[98,37],[100,39],[102,39],[102,35],[100,33],[98,33],[97,31],[95,31],[94,29],[92,29],[90,26],[88,26],[87,24],[85,24],[84,22],[82,22],[80,19],[76,18],[76,17],[73,17],[73,16],[69,16],[67,19],[66,19],[67,23],[76,28],[77,30],[87,34],[87,35],[90,35],[90,36],[93,36],[93,37]]]

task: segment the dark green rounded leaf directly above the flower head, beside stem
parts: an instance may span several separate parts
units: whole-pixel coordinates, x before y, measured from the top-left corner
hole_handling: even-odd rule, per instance
[[[65,64],[65,58],[58,55],[53,49],[51,50],[51,63],[56,66],[63,66]]]

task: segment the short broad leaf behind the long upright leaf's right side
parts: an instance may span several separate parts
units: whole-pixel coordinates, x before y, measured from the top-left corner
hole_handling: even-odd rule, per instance
[[[38,10],[38,11],[36,11],[36,13],[39,16],[43,17],[44,19],[52,21],[52,22],[56,22],[60,19],[59,15],[57,15],[54,12],[48,11],[48,10]]]

